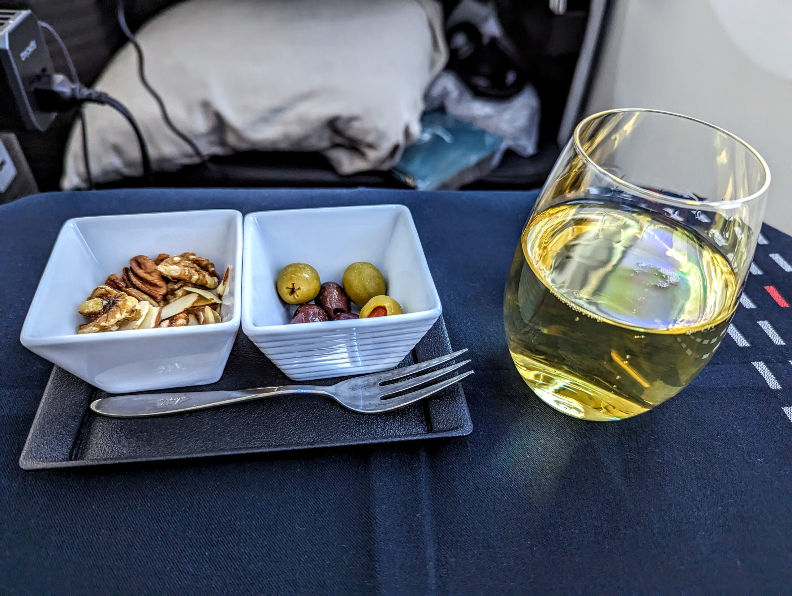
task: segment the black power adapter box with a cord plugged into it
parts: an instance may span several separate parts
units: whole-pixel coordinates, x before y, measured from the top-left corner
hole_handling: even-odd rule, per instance
[[[34,89],[55,74],[44,35],[30,10],[0,9],[0,130],[46,131],[57,113]]]

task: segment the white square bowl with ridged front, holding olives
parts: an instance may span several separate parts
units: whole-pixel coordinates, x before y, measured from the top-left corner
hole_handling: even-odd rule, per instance
[[[295,381],[393,368],[442,308],[413,217],[404,205],[261,211],[245,217],[242,329]],[[290,325],[295,306],[275,282],[290,263],[308,263],[322,282],[341,283],[349,264],[383,272],[404,314]]]

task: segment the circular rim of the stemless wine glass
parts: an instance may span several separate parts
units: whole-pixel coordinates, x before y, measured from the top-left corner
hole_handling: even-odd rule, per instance
[[[593,120],[598,120],[603,116],[609,116],[611,114],[619,114],[624,112],[645,112],[645,113],[652,113],[652,114],[662,114],[663,116],[676,116],[678,118],[683,118],[684,120],[691,120],[692,122],[703,124],[706,127],[710,127],[715,131],[720,132],[722,135],[726,135],[731,139],[737,141],[739,144],[744,146],[748,151],[759,161],[760,165],[762,166],[764,172],[764,184],[762,187],[757,190],[756,192],[752,193],[751,195],[741,197],[740,199],[732,199],[730,201],[717,201],[717,200],[701,200],[697,201],[694,199],[681,199],[677,196],[666,195],[662,192],[651,191],[647,188],[642,188],[637,184],[632,184],[615,176],[614,174],[608,172],[602,166],[600,166],[596,161],[592,159],[588,153],[583,149],[581,145],[581,130],[585,124],[592,122]],[[573,146],[575,151],[584,161],[588,162],[594,169],[598,172],[604,174],[604,176],[614,180],[616,184],[629,188],[630,191],[634,191],[638,196],[643,196],[647,199],[657,200],[661,203],[668,203],[670,205],[676,206],[684,206],[684,207],[712,207],[714,209],[723,209],[724,207],[732,207],[736,205],[741,205],[743,203],[749,203],[754,199],[758,199],[767,192],[767,188],[770,186],[770,168],[767,167],[767,162],[764,161],[764,158],[759,154],[759,152],[750,146],[747,142],[743,139],[734,135],[733,133],[725,130],[725,128],[716,126],[715,124],[706,122],[706,120],[699,120],[698,118],[694,118],[693,116],[685,116],[684,114],[679,114],[677,112],[667,112],[665,110],[656,110],[651,108],[616,108],[610,110],[603,110],[602,112],[596,112],[596,114],[592,114],[591,116],[586,116],[583,120],[577,123],[575,130],[572,135]]]

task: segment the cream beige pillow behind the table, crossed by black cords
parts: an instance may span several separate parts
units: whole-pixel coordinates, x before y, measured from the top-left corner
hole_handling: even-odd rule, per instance
[[[447,50],[435,0],[189,0],[137,34],[147,75],[205,154],[319,151],[340,173],[388,169],[421,132],[425,89]],[[124,103],[155,170],[196,157],[162,123],[123,47],[95,88]],[[86,108],[94,180],[141,173],[135,136],[112,109]],[[63,188],[86,175],[78,125]]]

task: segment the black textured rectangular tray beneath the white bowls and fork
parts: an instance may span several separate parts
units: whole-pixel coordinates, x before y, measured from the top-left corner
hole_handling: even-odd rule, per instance
[[[450,353],[451,344],[440,317],[399,366]],[[315,384],[331,385],[339,380],[323,379]],[[223,378],[212,385],[187,390],[288,383],[289,379],[239,333]],[[34,470],[252,454],[458,437],[473,431],[459,384],[382,414],[357,414],[327,397],[312,395],[268,397],[155,418],[108,418],[88,408],[91,401],[107,395],[55,366],[19,458],[20,467]]]

